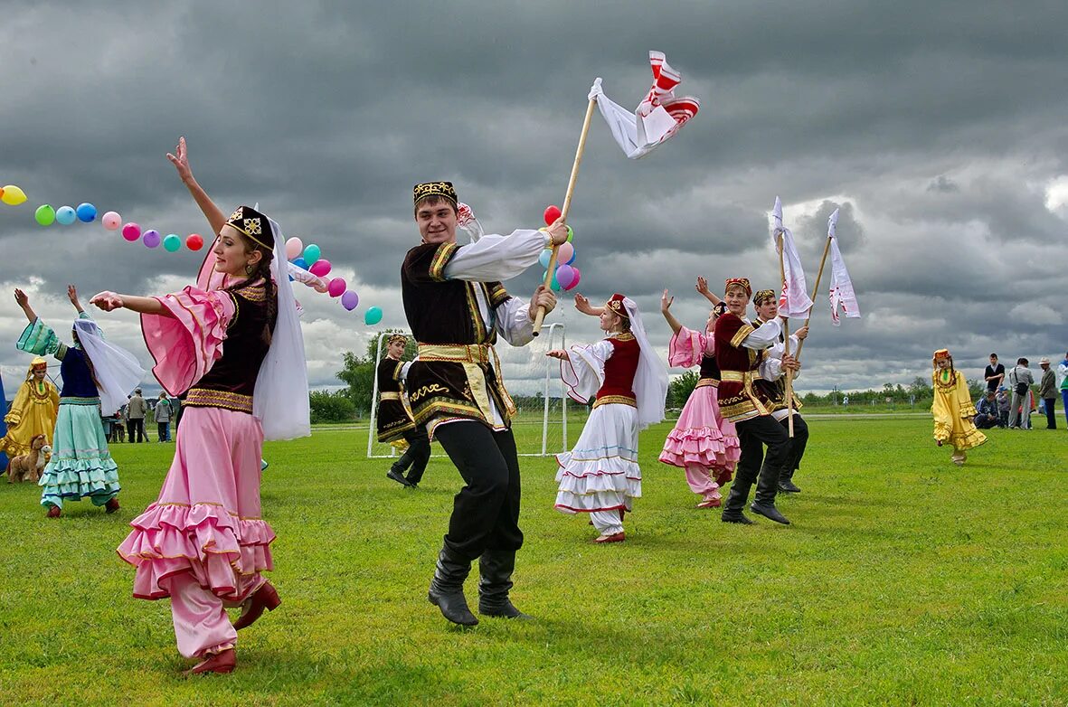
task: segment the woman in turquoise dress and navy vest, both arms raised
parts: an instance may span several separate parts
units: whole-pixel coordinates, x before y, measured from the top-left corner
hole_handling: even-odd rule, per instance
[[[41,505],[48,509],[49,518],[60,517],[64,501],[85,497],[108,513],[119,510],[119,466],[108,451],[99,408],[117,408],[144,375],[132,354],[104,341],[100,328],[81,308],[74,285],[67,286],[67,297],[78,310],[70,332],[73,346],[60,343],[51,327],[34,313],[26,293],[15,290],[15,301],[30,321],[18,339],[18,348],[51,354],[61,361],[63,390],[52,456],[37,482]]]

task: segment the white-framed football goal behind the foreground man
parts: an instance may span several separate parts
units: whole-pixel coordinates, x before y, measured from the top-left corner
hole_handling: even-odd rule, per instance
[[[375,370],[386,356],[388,333],[378,335],[375,352]],[[568,414],[571,425],[578,415],[581,425],[585,418],[585,407],[567,397],[560,379],[560,362],[546,356],[554,348],[566,348],[565,330],[562,323],[546,325],[541,334],[527,346],[512,346],[504,341],[496,345],[501,359],[504,386],[515,400],[517,413],[512,422],[516,436],[516,447],[520,456],[548,456],[565,452],[568,447]],[[375,377],[371,426],[367,430],[367,457],[383,458],[395,456],[396,450],[378,441],[378,378]],[[434,453],[443,454],[434,445]]]

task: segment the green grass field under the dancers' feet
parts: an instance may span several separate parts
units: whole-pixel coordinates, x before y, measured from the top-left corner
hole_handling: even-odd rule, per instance
[[[268,443],[283,604],[241,632],[234,674],[197,679],[178,675],[169,603],[132,599],[114,553],[173,445],[113,445],[114,516],[82,502],[47,520],[35,488],[0,483],[0,702],[1068,703],[1064,429],[993,430],[958,469],[927,420],[815,420],[804,492],[780,502],[794,525],[742,528],[656,461],[669,428],[643,434],[621,545],[552,509],[551,459],[522,460],[513,599],[537,619],[473,630],[426,601],[459,486],[447,459],[410,491],[357,430]]]

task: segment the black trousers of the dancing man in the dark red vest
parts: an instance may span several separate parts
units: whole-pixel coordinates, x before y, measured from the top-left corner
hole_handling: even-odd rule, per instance
[[[779,490],[779,474],[786,467],[790,452],[790,438],[786,428],[768,414],[736,422],[735,430],[738,433],[741,457],[738,459],[734,481],[738,493],[732,492],[728,503],[737,503],[736,509],[740,510],[758,474],[760,483],[756,488],[755,501],[761,504],[774,503],[775,492]],[[768,447],[767,454],[764,453],[765,445]]]

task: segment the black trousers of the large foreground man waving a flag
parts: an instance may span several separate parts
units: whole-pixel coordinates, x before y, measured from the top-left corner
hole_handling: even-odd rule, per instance
[[[445,545],[473,561],[486,550],[516,551],[519,530],[519,457],[512,430],[494,433],[481,422],[440,425],[435,437],[464,477],[453,499]]]

